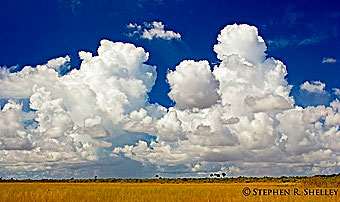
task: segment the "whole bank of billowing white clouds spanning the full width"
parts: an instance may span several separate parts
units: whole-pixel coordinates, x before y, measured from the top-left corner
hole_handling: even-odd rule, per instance
[[[138,25],[131,24],[138,28]],[[339,171],[340,102],[300,107],[290,96],[283,62],[266,57],[257,28],[228,25],[214,46],[221,61],[182,61],[169,71],[175,106],[148,103],[156,67],[133,44],[102,40],[80,51],[11,73],[1,68],[0,166],[46,170],[53,165],[131,159],[159,171],[205,175],[306,175]],[[324,92],[325,84],[301,85]],[[21,99],[29,100],[24,110]],[[124,136],[119,136],[124,134]],[[120,138],[147,134],[132,143]],[[46,165],[46,163],[51,163]]]

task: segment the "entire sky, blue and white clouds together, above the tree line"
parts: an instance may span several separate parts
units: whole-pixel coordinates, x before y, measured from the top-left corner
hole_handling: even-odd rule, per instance
[[[2,0],[0,26],[4,176],[339,171],[338,1]]]

